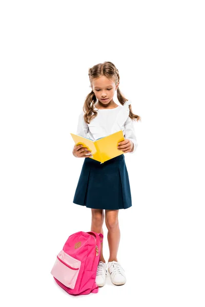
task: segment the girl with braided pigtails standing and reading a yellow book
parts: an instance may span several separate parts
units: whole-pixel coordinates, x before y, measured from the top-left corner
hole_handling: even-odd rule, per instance
[[[118,70],[113,63],[104,62],[90,68],[88,75],[92,91],[86,97],[83,112],[79,115],[76,134],[96,140],[122,129],[125,141],[118,143],[118,149],[124,153],[134,153],[137,142],[132,120],[138,121],[141,118],[132,113],[131,101],[119,90]],[[113,101],[115,91],[121,105]],[[124,153],[100,163],[88,159],[92,157],[92,152],[83,145],[75,145],[73,148],[75,157],[87,158],[84,159],[73,203],[91,208],[91,231],[103,233],[105,218],[110,250],[108,271],[112,283],[116,285],[126,282],[125,271],[117,260],[120,239],[118,211],[132,206]],[[98,287],[105,285],[106,275],[107,264],[103,256],[102,242],[96,273]]]

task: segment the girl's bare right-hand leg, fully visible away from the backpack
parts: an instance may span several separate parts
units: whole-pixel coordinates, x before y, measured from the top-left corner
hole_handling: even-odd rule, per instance
[[[108,245],[110,250],[108,261],[117,261],[117,251],[120,240],[118,212],[119,210],[106,210],[106,226],[108,228]]]

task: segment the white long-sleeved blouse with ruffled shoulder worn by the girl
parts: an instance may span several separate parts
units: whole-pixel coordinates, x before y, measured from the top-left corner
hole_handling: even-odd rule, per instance
[[[129,117],[129,104],[131,104],[131,101],[127,100],[124,105],[118,105],[112,109],[97,109],[94,107],[97,111],[97,116],[90,121],[90,124],[85,122],[85,113],[82,111],[78,117],[76,135],[95,141],[122,130],[125,139],[134,143],[133,151],[127,153],[134,153],[138,144],[134,122]]]

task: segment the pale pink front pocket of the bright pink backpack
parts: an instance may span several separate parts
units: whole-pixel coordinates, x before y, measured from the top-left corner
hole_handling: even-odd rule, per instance
[[[57,255],[51,274],[66,287],[74,289],[80,265],[80,260],[71,257],[61,250]]]

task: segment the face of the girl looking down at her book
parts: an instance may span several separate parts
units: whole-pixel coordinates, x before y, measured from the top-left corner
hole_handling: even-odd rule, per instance
[[[115,85],[112,79],[101,76],[92,81],[92,90],[96,98],[103,104],[108,104],[117,90],[119,82]]]

